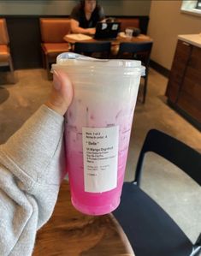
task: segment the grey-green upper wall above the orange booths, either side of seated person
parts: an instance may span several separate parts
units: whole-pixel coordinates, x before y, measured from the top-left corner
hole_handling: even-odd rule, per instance
[[[2,0],[0,15],[69,15],[79,1]],[[149,15],[151,0],[100,0],[106,15]]]

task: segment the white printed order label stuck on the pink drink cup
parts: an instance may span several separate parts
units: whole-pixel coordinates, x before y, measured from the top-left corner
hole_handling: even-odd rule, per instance
[[[117,186],[119,126],[82,128],[85,191],[101,193]]]

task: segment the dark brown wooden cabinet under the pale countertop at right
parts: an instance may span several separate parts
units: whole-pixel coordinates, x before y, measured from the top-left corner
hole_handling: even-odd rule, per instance
[[[178,40],[166,96],[168,104],[201,128],[201,48]]]

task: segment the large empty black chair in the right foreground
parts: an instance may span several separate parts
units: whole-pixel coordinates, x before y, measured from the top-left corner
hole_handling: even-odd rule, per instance
[[[140,152],[135,180],[123,185],[121,204],[113,212],[115,218],[127,234],[136,256],[199,255],[201,234],[192,244],[168,213],[139,188],[147,152],[155,152],[166,158],[201,184],[201,154],[179,140],[152,129]]]

